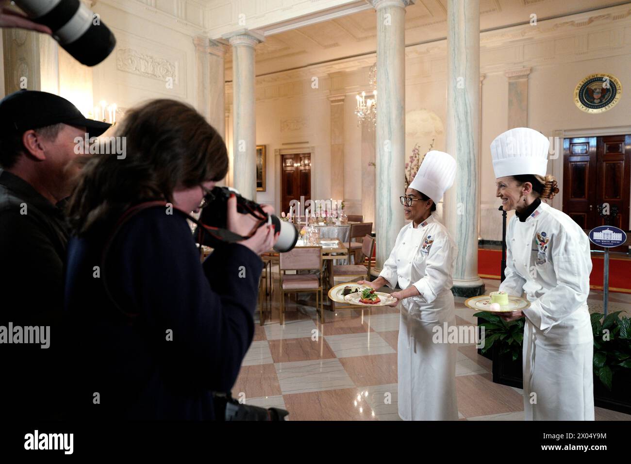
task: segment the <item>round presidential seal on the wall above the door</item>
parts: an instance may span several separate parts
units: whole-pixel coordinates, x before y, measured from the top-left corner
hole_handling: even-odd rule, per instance
[[[591,74],[574,89],[574,103],[587,113],[601,113],[613,108],[622,95],[620,81],[611,74]]]

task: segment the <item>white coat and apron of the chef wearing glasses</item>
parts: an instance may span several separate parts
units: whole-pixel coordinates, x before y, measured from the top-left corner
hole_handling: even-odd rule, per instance
[[[456,325],[452,271],[457,247],[430,215],[405,225],[379,274],[394,289],[414,285],[402,300],[398,342],[398,407],[403,420],[457,420],[455,343],[433,343],[433,328]],[[443,335],[446,340],[447,334]]]

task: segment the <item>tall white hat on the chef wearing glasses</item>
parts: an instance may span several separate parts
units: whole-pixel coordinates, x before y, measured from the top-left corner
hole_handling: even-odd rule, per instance
[[[456,160],[449,153],[432,150],[427,152],[410,188],[418,190],[434,203],[438,203],[445,191],[454,184]]]

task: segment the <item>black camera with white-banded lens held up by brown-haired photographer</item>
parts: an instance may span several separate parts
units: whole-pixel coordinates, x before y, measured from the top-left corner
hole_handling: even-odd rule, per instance
[[[227,230],[227,202],[232,194],[237,196],[237,211],[257,218],[259,220],[258,227],[269,223],[274,224],[274,230],[280,232],[274,250],[285,253],[296,246],[298,231],[292,223],[281,221],[276,215],[268,215],[263,211],[261,205],[242,197],[237,190],[230,187],[215,187],[204,196],[206,205],[201,210],[199,222],[204,225],[206,234],[201,237],[199,227],[194,232],[200,244],[216,248],[225,242],[240,242],[248,238]]]

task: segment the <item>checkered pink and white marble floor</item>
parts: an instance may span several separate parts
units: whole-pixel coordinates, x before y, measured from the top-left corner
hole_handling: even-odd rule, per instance
[[[498,283],[485,279],[487,292],[497,290]],[[264,303],[262,326],[257,311],[254,342],[233,397],[286,409],[289,420],[400,420],[398,309],[331,312],[325,306],[321,324],[306,298],[300,294],[296,302],[295,295],[286,296],[284,326],[279,324],[277,291]],[[463,301],[456,298],[457,324],[475,325],[473,311]],[[589,304],[602,311],[602,292],[593,290]],[[631,295],[610,294],[609,309],[631,310]],[[478,355],[473,344],[458,347],[456,388],[461,420],[523,420],[522,391],[493,383],[491,361]],[[631,415],[596,408],[596,420],[631,420]]]

